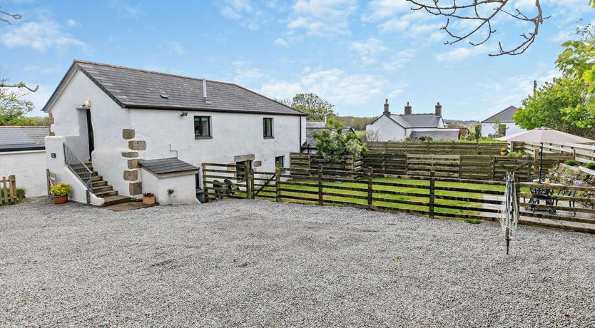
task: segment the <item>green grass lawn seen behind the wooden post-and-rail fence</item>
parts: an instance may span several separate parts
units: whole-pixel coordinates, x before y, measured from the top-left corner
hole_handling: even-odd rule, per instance
[[[420,187],[429,186],[429,181],[427,180],[409,180],[409,179],[400,179],[400,178],[377,178],[374,179],[375,184],[373,185],[373,197],[375,198],[385,198],[389,201],[382,201],[382,200],[374,200],[372,202],[373,205],[383,206],[383,207],[390,207],[395,208],[395,210],[421,210],[427,211],[427,205],[414,205],[414,204],[403,204],[403,203],[391,203],[390,200],[395,201],[405,201],[405,202],[423,202],[427,203],[429,201],[429,190],[424,188],[415,188],[415,187],[401,187],[401,186],[390,186],[390,185],[377,185],[376,183],[402,183],[407,185],[419,185]],[[300,184],[308,184],[308,185],[291,185],[291,183],[300,183]],[[287,183],[282,183],[281,188],[291,189],[282,190],[282,196],[298,196],[303,198],[310,198],[312,200],[291,200],[291,199],[283,199],[284,202],[290,203],[317,203],[318,201],[318,187],[316,180],[293,180],[288,181]],[[485,195],[483,193],[484,190],[487,191],[498,191],[504,193],[504,186],[501,185],[482,185],[482,184],[471,184],[471,183],[452,183],[452,182],[436,182],[436,187],[444,187],[444,188],[465,188],[469,189],[469,191],[452,191],[452,190],[436,190],[436,195],[445,195],[451,197],[462,197],[462,198],[475,198],[475,199],[482,199]],[[325,193],[335,193],[337,195],[325,195],[325,200],[331,201],[340,201],[340,202],[348,202],[354,204],[362,204],[366,205],[366,199],[360,198],[353,198],[353,196],[357,197],[367,197],[367,183],[340,183],[340,182],[325,182],[323,183],[323,188]],[[338,188],[362,188],[365,190],[344,190]],[[393,195],[389,193],[383,193],[383,191],[390,192],[400,192],[400,193],[410,193],[415,195]],[[265,187],[259,195],[275,195],[275,188],[273,187]],[[258,198],[258,196],[257,196]],[[482,208],[482,203],[474,203],[464,200],[442,200],[436,199],[435,204],[444,204],[444,205],[457,205],[457,206],[466,206],[466,207],[475,207],[475,208]],[[456,214],[469,214],[469,215],[477,215],[479,214],[479,210],[467,210],[467,209],[451,209],[451,208],[435,208],[436,212],[444,212],[444,213],[456,213]]]

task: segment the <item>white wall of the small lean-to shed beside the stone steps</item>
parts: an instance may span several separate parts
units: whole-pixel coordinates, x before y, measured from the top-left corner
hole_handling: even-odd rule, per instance
[[[141,170],[143,193],[153,193],[159,205],[198,203],[194,175],[158,178],[145,169]],[[168,190],[173,189],[169,194]]]

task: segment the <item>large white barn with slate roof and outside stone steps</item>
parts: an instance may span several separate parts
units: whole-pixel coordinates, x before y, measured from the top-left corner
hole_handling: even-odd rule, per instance
[[[193,203],[201,163],[270,171],[305,140],[304,113],[236,84],[86,61],[73,62],[44,111],[49,170],[93,205],[143,193]]]

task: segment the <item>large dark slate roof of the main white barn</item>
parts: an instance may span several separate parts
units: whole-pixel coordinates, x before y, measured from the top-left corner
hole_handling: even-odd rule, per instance
[[[234,83],[206,80],[207,101],[204,101],[203,79],[200,78],[78,60],[73,62],[44,111],[53,103],[67,76],[75,70],[83,72],[122,108],[305,116]]]

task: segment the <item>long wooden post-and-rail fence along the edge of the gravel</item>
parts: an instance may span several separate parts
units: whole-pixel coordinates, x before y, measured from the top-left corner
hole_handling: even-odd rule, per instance
[[[420,177],[387,175],[370,170],[360,173],[362,178],[357,179],[352,178],[351,172],[305,168],[296,171],[278,168],[275,172],[248,172],[248,175],[243,175],[242,179],[235,182],[238,189],[228,193],[228,188],[210,187],[221,183],[220,180],[213,181],[213,178],[233,178],[238,175],[238,172],[220,170],[221,166],[238,168],[237,165],[203,165],[205,193],[209,200],[267,198],[276,201],[409,212],[429,217],[494,221],[499,217],[499,205],[504,193],[504,181],[440,178],[434,176],[433,172],[428,177]],[[241,173],[245,174],[245,171],[242,169]],[[535,183],[518,183],[518,186],[517,198],[522,215],[520,223],[595,233],[594,225],[582,225],[595,222],[592,217],[588,217],[595,214],[595,209],[570,205],[571,202],[584,203],[591,207],[595,205],[595,188]],[[531,188],[574,190],[576,194],[536,195],[532,193]],[[530,201],[533,197],[547,198],[551,203],[534,204]],[[584,215],[571,215],[570,212]]]

